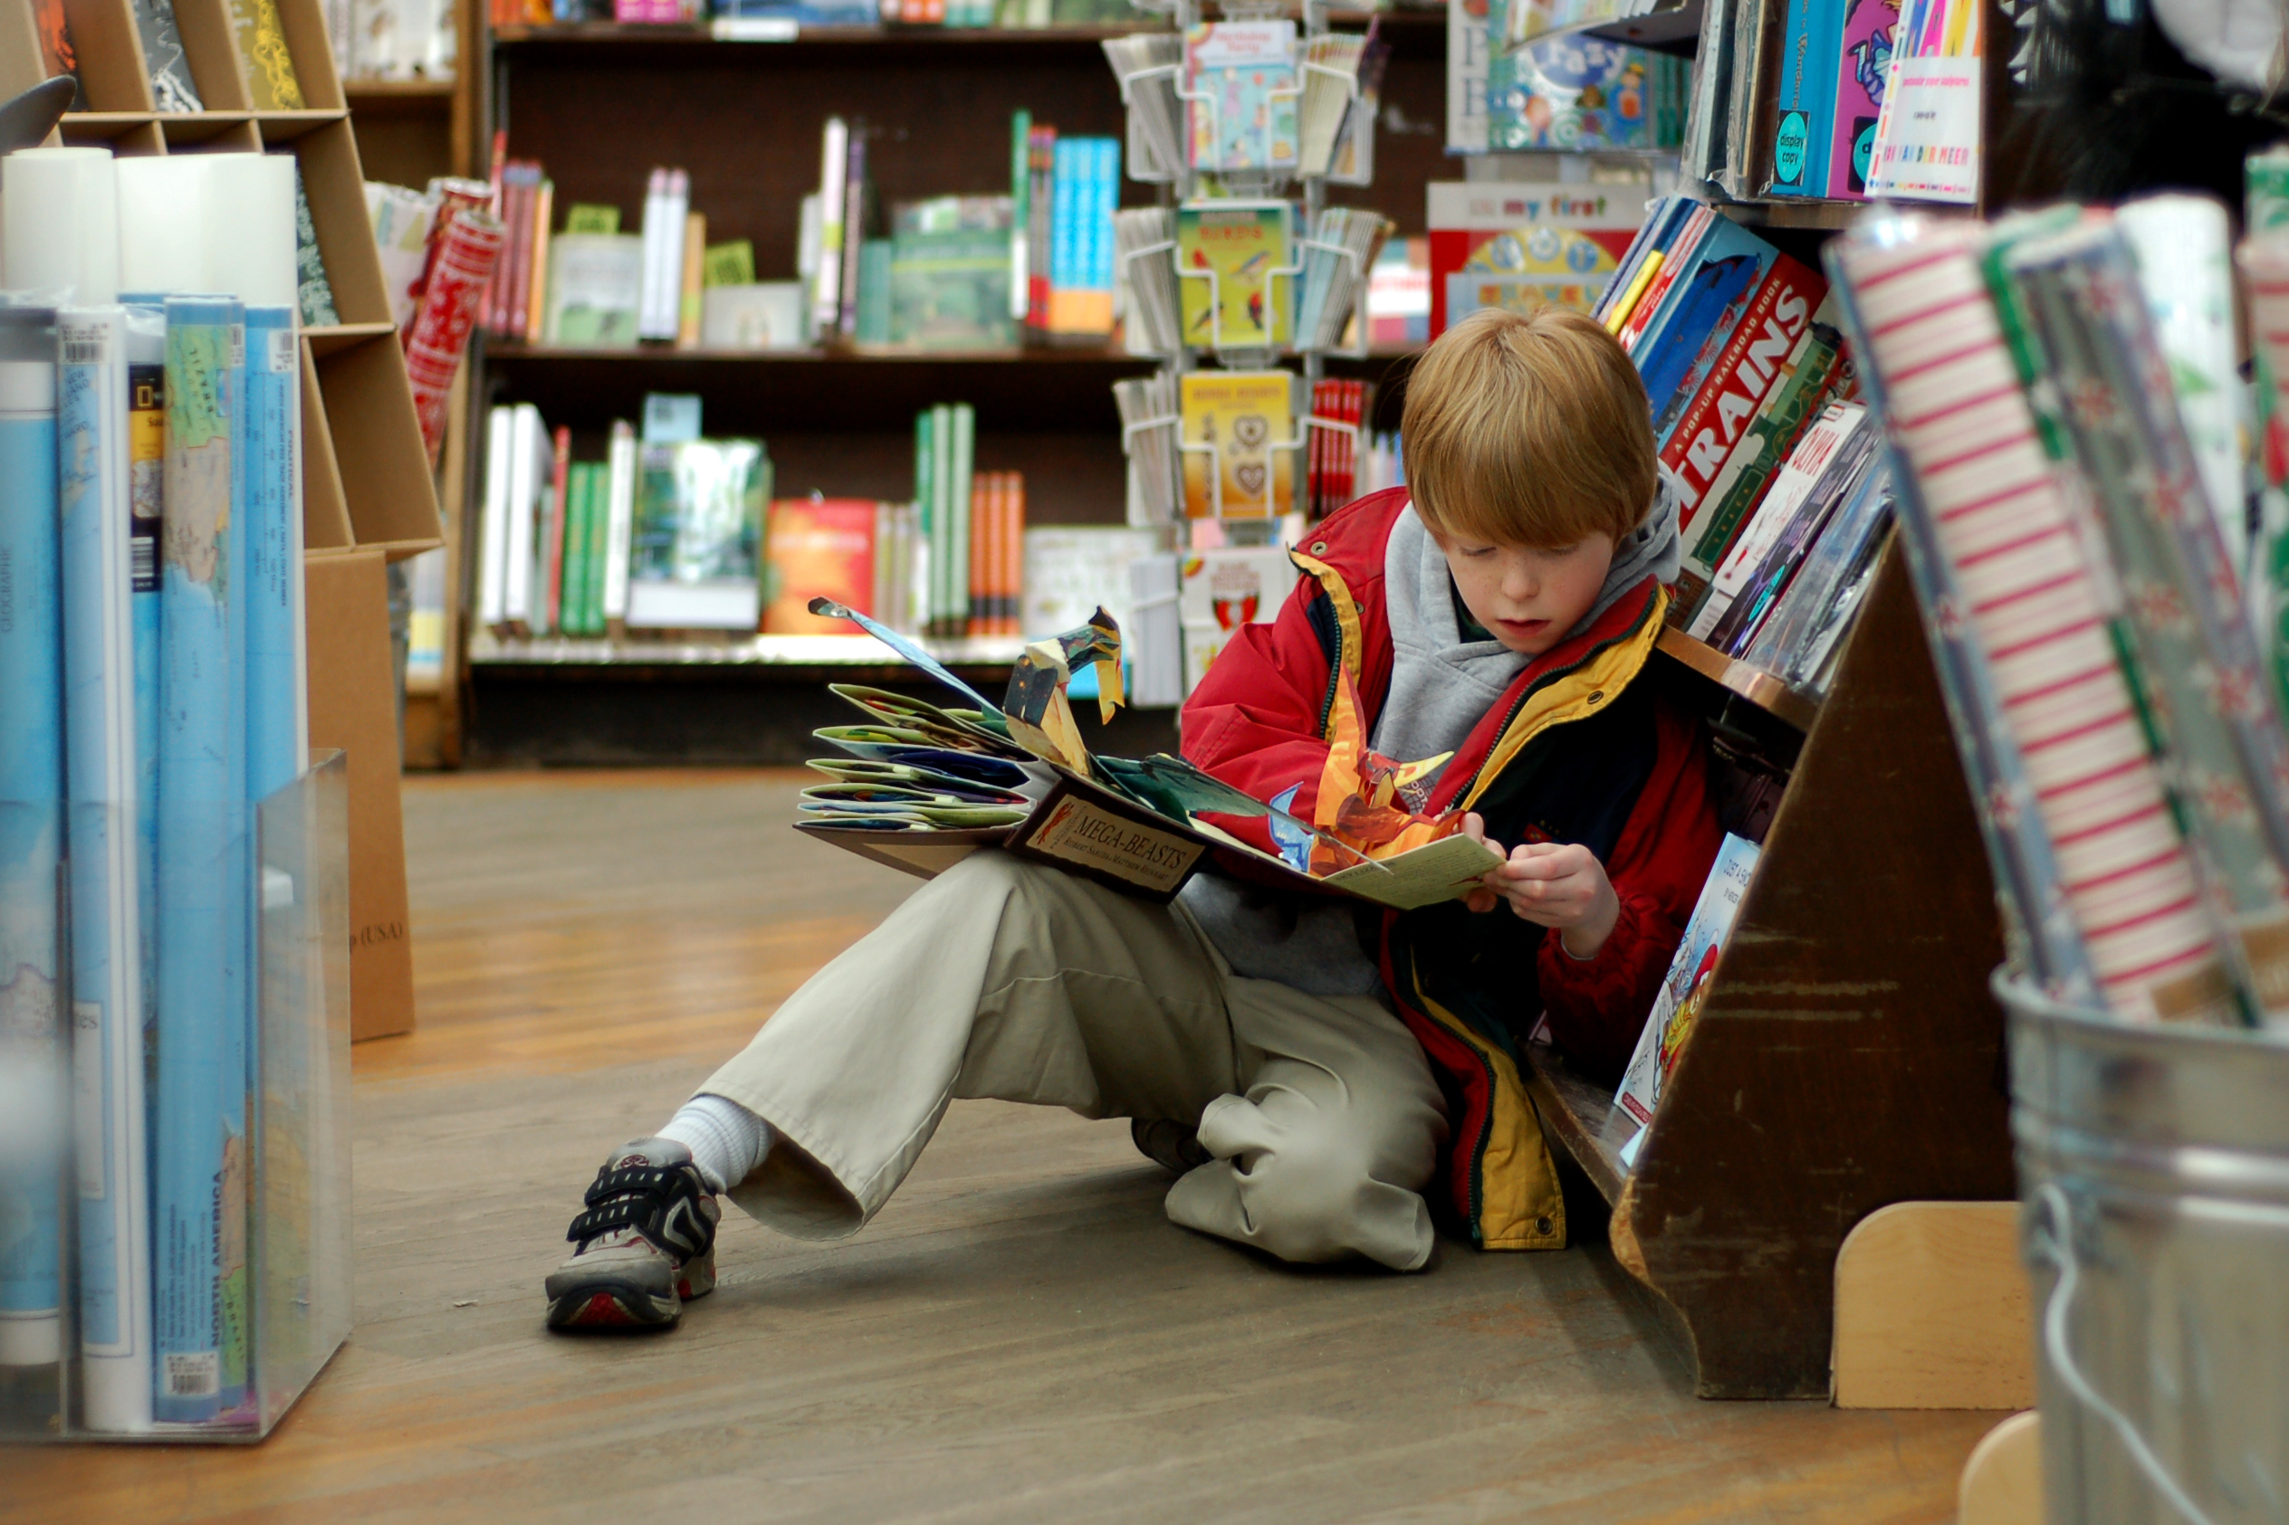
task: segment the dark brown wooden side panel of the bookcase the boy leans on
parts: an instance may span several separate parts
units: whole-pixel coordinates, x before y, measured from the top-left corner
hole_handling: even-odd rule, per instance
[[[2012,1196],[2001,958],[1891,546],[1614,1209],[1703,1397],[1827,1397],[1845,1232],[1888,1203]]]

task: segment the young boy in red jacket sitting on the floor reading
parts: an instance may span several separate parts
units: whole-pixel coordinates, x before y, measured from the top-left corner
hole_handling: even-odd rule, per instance
[[[1694,722],[1637,681],[1676,498],[1630,359],[1559,309],[1449,329],[1403,439],[1410,487],[1309,533],[1277,622],[1183,706],[1183,752],[1305,819],[1332,745],[1454,752],[1419,812],[1515,844],[1483,887],[1399,915],[1197,873],[1156,905],[973,853],[607,1157],[552,1326],[673,1324],[714,1287],[721,1193],[790,1235],[858,1232],[952,1097],[1131,1118],[1179,1173],[1172,1221],[1280,1260],[1417,1271],[1435,1216],[1486,1248],[1566,1244],[1527,1033],[1547,1015],[1618,1075],[1721,839]],[[1261,819],[1225,825],[1270,848]]]

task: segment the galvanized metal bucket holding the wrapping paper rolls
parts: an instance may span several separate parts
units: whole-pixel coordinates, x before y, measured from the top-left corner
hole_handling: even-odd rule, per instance
[[[1994,990],[2049,1518],[2289,1523],[2289,1045]]]

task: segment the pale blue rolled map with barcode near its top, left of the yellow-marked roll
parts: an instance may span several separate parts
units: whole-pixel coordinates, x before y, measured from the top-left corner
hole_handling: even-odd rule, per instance
[[[126,311],[66,306],[57,336],[80,1390],[89,1429],[135,1434],[151,1427],[151,1239]]]

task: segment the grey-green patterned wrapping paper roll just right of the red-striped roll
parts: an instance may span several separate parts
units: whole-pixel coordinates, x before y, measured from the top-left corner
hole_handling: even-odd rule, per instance
[[[2035,402],[2067,444],[2067,469],[2106,537],[2163,780],[2204,880],[2225,899],[2241,974],[2266,1017],[2289,1022],[2289,738],[2136,256],[2104,219],[1998,254],[1989,258],[1996,311],[2005,334],[2049,361]]]

